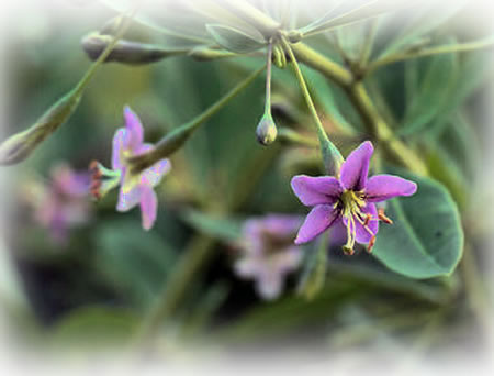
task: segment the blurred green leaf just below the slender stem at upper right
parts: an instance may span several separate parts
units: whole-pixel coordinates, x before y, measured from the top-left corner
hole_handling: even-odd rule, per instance
[[[453,41],[451,41],[453,43]],[[437,55],[428,60],[424,77],[407,106],[401,134],[422,131],[451,107],[450,97],[459,71],[457,54]]]

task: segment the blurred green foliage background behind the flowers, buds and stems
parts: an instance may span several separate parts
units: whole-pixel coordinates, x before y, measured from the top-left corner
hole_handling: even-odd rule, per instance
[[[115,15],[99,2],[57,7],[58,12],[40,7],[20,13],[11,26],[9,54],[2,57],[9,67],[10,122],[4,134],[33,123],[79,80],[90,64],[81,37]],[[386,19],[375,51],[390,43],[395,27],[415,31],[411,45],[424,37],[446,44],[476,37],[460,20],[461,12],[427,27],[424,14],[402,24]],[[339,49],[351,58],[366,30],[343,27],[337,33],[339,47],[325,37],[311,44],[345,64]],[[20,289],[4,306],[14,335],[29,345],[48,343],[54,349],[66,343],[125,344],[164,287],[173,283],[184,254],[202,244],[214,251],[173,307],[172,325],[160,333],[166,351],[195,342],[224,351],[259,343],[302,345],[323,355],[358,346],[392,349],[396,343],[429,354],[465,344],[471,352],[484,346],[492,329],[491,306],[482,298],[490,280],[484,276],[490,273],[491,228],[480,217],[483,198],[492,192],[475,181],[487,143],[484,107],[492,84],[492,49],[392,64],[366,81],[385,120],[419,151],[431,177],[448,188],[460,208],[469,264],[462,262],[451,277],[408,279],[363,252],[349,258],[338,248],[329,252],[324,286],[312,300],[295,294],[301,273],[290,277],[285,292],[273,302],[260,300],[251,281],[234,275],[237,254],[225,241],[225,223],[237,231],[251,215],[305,213],[290,190],[290,178],[321,172],[316,151],[279,144],[266,148],[256,142],[263,110],[261,78],[171,157],[173,169],[157,190],[160,204],[151,232],[142,230],[137,209],[115,211],[116,192],[91,203],[90,221],[72,229],[66,243],[54,242],[35,221],[25,197],[30,187],[34,181],[46,184],[56,162],[79,170],[92,159],[110,165],[111,140],[123,125],[125,104],[141,117],[146,140],[156,142],[262,64],[263,57],[195,62],[187,56],[139,67],[106,64],[69,122],[33,157],[9,168],[11,220],[4,242]],[[304,73],[327,131],[347,155],[368,137],[359,114],[341,89],[313,70]],[[296,81],[288,68],[273,74],[278,125],[305,133],[311,119]],[[238,203],[235,211],[224,213],[225,202],[232,200]],[[217,219],[225,214],[226,222]]]

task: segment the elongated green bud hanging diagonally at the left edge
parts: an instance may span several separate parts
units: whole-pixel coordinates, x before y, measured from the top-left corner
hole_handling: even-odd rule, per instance
[[[81,92],[72,90],[53,104],[30,129],[16,133],[0,144],[0,165],[13,165],[27,158],[47,136],[72,114]]]

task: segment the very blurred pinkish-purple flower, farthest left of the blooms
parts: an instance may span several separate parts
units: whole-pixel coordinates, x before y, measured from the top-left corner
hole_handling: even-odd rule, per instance
[[[30,198],[35,220],[49,230],[55,242],[64,243],[70,228],[89,220],[89,174],[76,173],[68,165],[59,164],[50,175],[48,186],[31,185]]]

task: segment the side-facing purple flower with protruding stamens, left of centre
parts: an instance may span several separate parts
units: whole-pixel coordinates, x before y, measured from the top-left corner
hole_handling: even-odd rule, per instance
[[[112,170],[101,165],[93,165],[93,196],[101,197],[120,185],[116,210],[128,211],[141,206],[142,222],[145,230],[150,230],[156,221],[158,199],[154,188],[170,170],[168,159],[161,159],[138,174],[131,172],[130,157],[149,152],[154,145],[144,143],[144,130],[139,118],[128,108],[124,109],[125,128],[116,130],[113,136]]]

